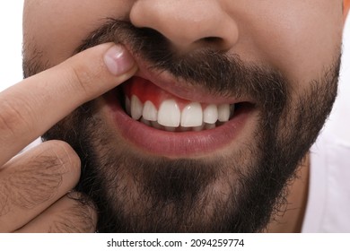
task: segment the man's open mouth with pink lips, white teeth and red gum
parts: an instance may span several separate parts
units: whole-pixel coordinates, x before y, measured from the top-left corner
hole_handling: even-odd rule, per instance
[[[251,133],[244,125],[255,110],[248,100],[214,97],[167,74],[142,70],[106,93],[104,100],[108,117],[126,143],[170,158],[212,153],[243,131]]]

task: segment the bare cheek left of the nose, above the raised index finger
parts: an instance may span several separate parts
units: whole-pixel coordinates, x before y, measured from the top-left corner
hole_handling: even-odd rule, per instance
[[[35,2],[35,4],[34,4]],[[49,65],[72,56],[82,40],[108,17],[125,18],[132,1],[50,0],[24,4],[24,49],[42,52]]]

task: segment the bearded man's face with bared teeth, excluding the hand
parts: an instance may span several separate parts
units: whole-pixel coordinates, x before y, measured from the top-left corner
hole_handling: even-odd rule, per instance
[[[342,28],[336,0],[27,0],[24,72],[109,41],[136,58],[44,136],[80,155],[100,231],[260,231],[331,109]]]

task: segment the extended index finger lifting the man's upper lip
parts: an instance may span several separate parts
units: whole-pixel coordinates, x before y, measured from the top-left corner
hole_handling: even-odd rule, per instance
[[[75,108],[125,82],[133,58],[112,43],[89,48],[0,93],[0,166]]]

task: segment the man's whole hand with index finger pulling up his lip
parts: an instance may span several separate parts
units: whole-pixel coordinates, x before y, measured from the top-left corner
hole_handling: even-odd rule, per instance
[[[69,192],[79,180],[80,160],[67,143],[41,143],[15,155],[74,108],[135,72],[128,52],[109,43],[0,93],[0,232],[95,230],[92,206]]]

